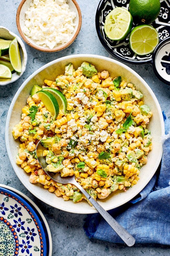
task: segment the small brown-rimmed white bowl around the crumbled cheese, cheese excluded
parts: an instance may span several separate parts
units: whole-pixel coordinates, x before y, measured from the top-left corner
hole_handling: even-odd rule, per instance
[[[72,44],[73,41],[76,39],[80,29],[81,29],[81,23],[82,23],[81,10],[80,10],[80,7],[78,6],[78,3],[75,0],[67,0],[67,4],[69,5],[70,10],[72,12],[76,13],[76,18],[73,20],[73,22],[75,24],[75,27],[74,27],[74,31],[72,33],[72,36],[71,36],[69,42],[64,43],[64,44],[58,44],[57,47],[55,47],[53,49],[50,49],[49,47],[44,47],[44,46],[37,45],[35,40],[33,40],[30,37],[27,37],[22,32],[22,30],[24,28],[24,25],[25,25],[25,22],[24,22],[25,12],[28,10],[28,8],[30,6],[30,3],[32,1],[33,0],[22,0],[19,7],[18,7],[17,13],[16,13],[16,25],[17,25],[17,28],[18,28],[18,31],[19,31],[20,35],[22,36],[22,39],[28,45],[33,47],[34,49],[39,50],[39,51],[48,52],[48,53],[61,51],[65,48],[67,48],[70,44]]]

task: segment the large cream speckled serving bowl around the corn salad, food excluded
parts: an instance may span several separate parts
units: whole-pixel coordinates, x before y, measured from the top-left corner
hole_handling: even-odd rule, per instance
[[[16,175],[24,186],[37,198],[48,205],[64,211],[73,213],[94,213],[96,210],[85,200],[79,203],[73,203],[72,200],[64,201],[63,198],[56,197],[55,194],[49,193],[42,185],[31,184],[29,182],[29,174],[15,163],[16,155],[18,154],[19,140],[14,140],[12,135],[12,129],[15,124],[20,121],[21,109],[25,106],[26,99],[30,95],[30,90],[33,85],[42,85],[44,79],[55,81],[57,75],[63,74],[66,64],[72,62],[76,69],[83,61],[90,62],[98,71],[108,70],[111,76],[121,76],[122,79],[134,83],[137,90],[143,93],[144,103],[150,107],[153,113],[148,125],[151,135],[153,136],[153,149],[148,154],[148,163],[140,169],[140,180],[137,185],[127,189],[126,192],[120,191],[113,193],[105,200],[98,200],[98,202],[105,210],[113,209],[131,200],[148,184],[158,168],[162,157],[161,137],[165,134],[165,130],[161,108],[147,83],[131,68],[116,60],[98,55],[71,55],[49,62],[38,69],[21,85],[14,96],[7,116],[5,140],[8,156]]]

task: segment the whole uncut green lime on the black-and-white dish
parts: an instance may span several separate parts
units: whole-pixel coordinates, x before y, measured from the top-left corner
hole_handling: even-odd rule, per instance
[[[130,0],[129,2],[129,12],[140,24],[153,22],[158,17],[160,8],[159,0]]]

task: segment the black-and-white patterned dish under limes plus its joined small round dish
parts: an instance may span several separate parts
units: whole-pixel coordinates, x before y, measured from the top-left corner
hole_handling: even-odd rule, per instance
[[[160,0],[160,14],[151,24],[158,31],[160,44],[153,53],[144,56],[139,56],[131,50],[129,46],[129,36],[121,41],[113,41],[110,40],[104,32],[104,23],[107,14],[116,7],[123,7],[128,10],[129,1],[130,0],[100,1],[95,17],[96,30],[100,42],[112,56],[120,61],[129,64],[151,64],[155,75],[160,80],[170,85],[170,0]],[[136,25],[137,24],[133,23],[133,27]]]

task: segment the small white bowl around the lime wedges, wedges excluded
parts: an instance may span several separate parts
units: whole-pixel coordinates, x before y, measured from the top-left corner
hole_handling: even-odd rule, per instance
[[[17,79],[19,79],[22,76],[22,74],[24,73],[24,71],[26,69],[26,65],[27,65],[27,52],[25,50],[25,45],[22,43],[22,40],[19,38],[18,35],[14,34],[11,31],[9,31],[9,29],[0,26],[0,38],[7,39],[7,40],[13,40],[15,37],[16,37],[16,39],[18,41],[18,45],[19,45],[22,70],[21,70],[21,73],[14,72],[12,74],[12,78],[11,79],[0,78],[0,85],[8,85],[9,83],[15,82]]]

